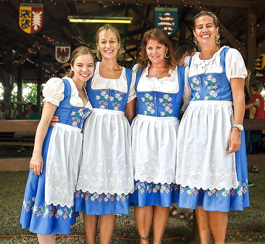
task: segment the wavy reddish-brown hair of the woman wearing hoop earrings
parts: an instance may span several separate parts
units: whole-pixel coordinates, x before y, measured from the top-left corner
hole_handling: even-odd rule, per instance
[[[172,43],[167,37],[166,33],[158,28],[146,31],[142,37],[142,55],[138,59],[140,69],[145,69],[148,63],[151,62],[149,59],[146,59],[146,45],[148,40],[157,40],[159,43],[164,44],[168,47],[168,58],[166,58],[166,65],[171,69],[175,69],[177,63],[174,57],[175,53]]]

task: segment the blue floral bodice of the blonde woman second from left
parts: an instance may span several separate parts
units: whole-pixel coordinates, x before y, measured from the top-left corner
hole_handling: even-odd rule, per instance
[[[87,81],[87,94],[89,101],[92,104],[93,108],[100,109],[110,109],[110,110],[119,110],[125,111],[127,105],[127,97],[129,94],[129,88],[131,84],[131,77],[133,75],[133,70],[125,68],[126,79],[127,79],[127,93],[116,91],[112,89],[95,89],[92,90],[91,82],[93,77]]]

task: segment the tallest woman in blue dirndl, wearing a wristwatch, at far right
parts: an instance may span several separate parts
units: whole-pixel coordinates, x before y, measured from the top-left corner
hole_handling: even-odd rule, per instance
[[[241,54],[219,47],[218,19],[211,12],[194,18],[201,52],[185,60],[190,98],[179,126],[176,183],[179,207],[196,209],[201,243],[224,243],[227,212],[249,206],[244,78]]]

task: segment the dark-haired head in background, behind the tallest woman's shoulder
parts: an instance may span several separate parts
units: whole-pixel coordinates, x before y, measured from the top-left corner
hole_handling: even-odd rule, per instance
[[[189,40],[179,41],[175,47],[177,65],[184,66],[184,59],[192,57],[196,53],[194,42]]]

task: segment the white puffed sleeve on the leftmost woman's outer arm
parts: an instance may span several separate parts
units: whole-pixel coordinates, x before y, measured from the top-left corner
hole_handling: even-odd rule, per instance
[[[45,102],[59,106],[60,102],[64,100],[63,80],[60,78],[50,78],[44,85],[42,95],[45,97]]]

